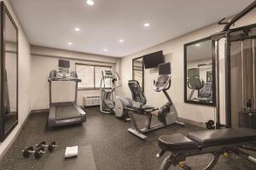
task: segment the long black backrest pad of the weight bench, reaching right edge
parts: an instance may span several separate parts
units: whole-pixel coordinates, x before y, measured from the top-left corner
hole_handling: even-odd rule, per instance
[[[189,133],[188,138],[201,145],[201,147],[252,143],[256,142],[256,130],[248,128],[225,128],[198,131]]]

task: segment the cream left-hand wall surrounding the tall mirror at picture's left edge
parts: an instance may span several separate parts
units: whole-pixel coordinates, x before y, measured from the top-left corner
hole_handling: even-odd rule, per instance
[[[26,117],[31,111],[30,105],[30,78],[31,78],[31,50],[30,44],[26,38],[26,33],[23,31],[20,21],[15,14],[14,8],[12,7],[9,0],[3,0],[10,14],[15,20],[16,25],[19,28],[19,123],[9,134],[8,138],[0,144],[0,157],[3,156],[4,152],[8,150],[9,146],[15,139],[17,133],[20,132],[20,127],[26,120]]]

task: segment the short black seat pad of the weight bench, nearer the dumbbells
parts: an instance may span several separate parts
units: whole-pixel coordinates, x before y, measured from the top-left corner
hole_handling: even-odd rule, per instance
[[[197,144],[181,133],[163,135],[158,139],[161,150],[193,150],[197,149]]]

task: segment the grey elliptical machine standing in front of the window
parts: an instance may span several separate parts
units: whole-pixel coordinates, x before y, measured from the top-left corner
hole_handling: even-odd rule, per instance
[[[101,81],[101,101],[100,108],[102,113],[112,114],[124,120],[129,121],[130,118],[127,111],[124,110],[126,105],[131,105],[132,101],[129,98],[124,98],[115,95],[115,89],[121,87],[121,85],[115,85],[116,82],[120,80],[119,74],[116,72],[116,77],[110,70],[102,71],[102,81]],[[107,84],[108,83],[108,84]]]

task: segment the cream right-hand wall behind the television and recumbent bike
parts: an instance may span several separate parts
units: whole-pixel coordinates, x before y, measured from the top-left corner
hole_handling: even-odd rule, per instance
[[[250,14],[247,14],[242,20],[236,23],[237,26],[246,26],[255,23],[256,11],[254,10]],[[155,51],[163,50],[166,55],[166,62],[172,63],[172,88],[168,91],[171,94],[174,105],[177,108],[178,115],[182,118],[189,119],[195,122],[207,122],[209,119],[214,119],[214,107],[191,105],[184,103],[184,90],[183,90],[183,45],[188,42],[194,42],[195,40],[209,37],[212,34],[221,31],[223,26],[214,24],[201,28],[200,30],[190,32],[182,37],[177,37],[168,42],[163,42],[152,48],[145,49],[143,51],[131,54],[122,59],[122,80],[123,88],[121,88],[121,94],[131,97],[131,92],[127,86],[127,82],[132,78],[131,62],[133,58],[143,56],[144,54],[154,53]],[[220,48],[224,51],[224,48]],[[220,78],[224,79],[224,56],[220,54],[221,65]],[[153,90],[153,80],[158,76],[157,70],[146,70],[145,71],[145,94],[148,99],[148,104],[160,106],[166,102],[164,94],[159,94]],[[126,83],[125,83],[126,82]],[[224,81],[221,80],[222,85],[221,92],[221,111],[224,113]],[[221,115],[221,122],[224,122],[224,114]]]

